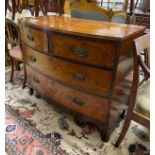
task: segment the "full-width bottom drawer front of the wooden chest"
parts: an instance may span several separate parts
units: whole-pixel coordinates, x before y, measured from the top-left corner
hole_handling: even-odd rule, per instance
[[[69,109],[98,121],[106,121],[108,111],[108,101],[106,99],[66,87],[48,79],[28,66],[26,67],[26,71],[27,82],[43,96],[47,96]]]

